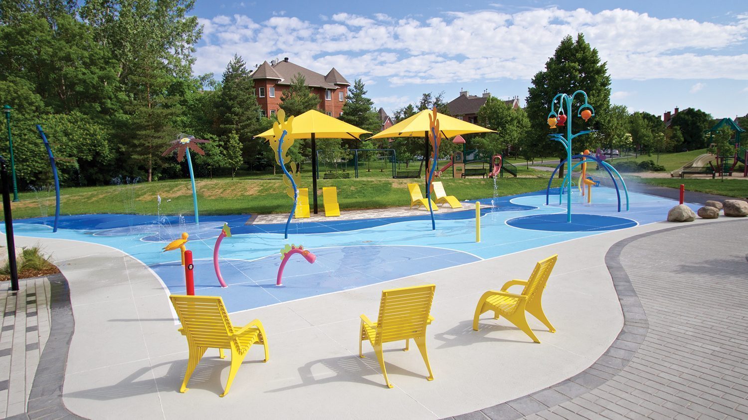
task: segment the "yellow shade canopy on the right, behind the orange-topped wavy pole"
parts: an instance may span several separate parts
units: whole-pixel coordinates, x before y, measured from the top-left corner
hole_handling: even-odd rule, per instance
[[[423,137],[424,132],[428,132],[431,127],[429,123],[429,114],[432,114],[432,110],[430,109],[420,111],[418,114],[396,123],[389,129],[378,132],[371,138]],[[441,113],[437,114],[437,117],[439,120],[441,135],[445,138],[453,138],[456,135],[470,133],[494,132],[494,130],[485,129],[481,126],[476,126],[467,121],[459,120],[455,117],[450,117]],[[294,121],[294,127],[295,123],[296,122]]]

